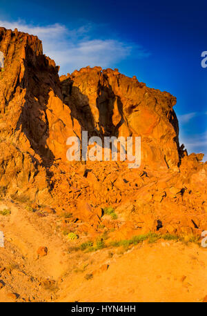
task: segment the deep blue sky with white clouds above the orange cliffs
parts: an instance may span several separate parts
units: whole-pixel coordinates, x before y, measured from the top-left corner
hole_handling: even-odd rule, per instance
[[[37,34],[60,74],[88,65],[119,68],[172,93],[180,142],[206,161],[206,12],[205,1],[0,0],[0,26]]]

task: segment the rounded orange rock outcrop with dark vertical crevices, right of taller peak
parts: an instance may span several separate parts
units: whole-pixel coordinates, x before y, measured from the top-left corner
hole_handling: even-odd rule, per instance
[[[179,164],[176,98],[168,92],[100,67],[61,76],[61,86],[72,117],[90,136],[141,136],[142,166]]]

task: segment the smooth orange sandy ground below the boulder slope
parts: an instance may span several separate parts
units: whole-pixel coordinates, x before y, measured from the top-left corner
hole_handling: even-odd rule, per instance
[[[41,217],[1,201],[0,302],[202,302],[207,295],[207,248],[175,241],[72,250],[57,215]],[[48,255],[37,256],[40,246]]]

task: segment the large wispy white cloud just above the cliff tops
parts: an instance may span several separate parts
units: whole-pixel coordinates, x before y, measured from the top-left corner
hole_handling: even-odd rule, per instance
[[[88,65],[113,68],[119,61],[129,58],[132,52],[138,59],[150,55],[136,43],[94,37],[91,24],[73,30],[59,23],[34,26],[21,20],[0,21],[0,26],[37,35],[43,41],[44,54],[61,66],[61,73],[72,72]]]

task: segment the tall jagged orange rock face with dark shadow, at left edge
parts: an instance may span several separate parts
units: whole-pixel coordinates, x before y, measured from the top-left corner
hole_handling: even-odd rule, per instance
[[[66,138],[76,128],[58,69],[37,37],[17,30],[0,28],[0,51],[0,185],[11,195],[49,201],[48,166],[66,156]]]

